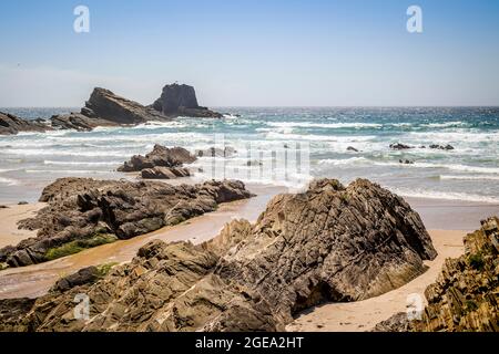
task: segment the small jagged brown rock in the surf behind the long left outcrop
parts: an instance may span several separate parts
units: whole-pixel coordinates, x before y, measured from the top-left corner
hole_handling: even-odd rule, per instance
[[[192,164],[195,160],[196,157],[183,147],[167,148],[156,144],[151,153],[145,156],[132,156],[130,162],[125,162],[118,170],[131,173],[154,167],[181,167],[183,164]]]

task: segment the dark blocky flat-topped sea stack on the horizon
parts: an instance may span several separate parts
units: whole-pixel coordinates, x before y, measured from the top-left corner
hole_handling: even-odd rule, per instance
[[[191,116],[191,117],[215,117],[223,115],[210,111],[197,104],[196,93],[193,86],[179,85],[176,83],[165,85],[161,97],[157,98],[152,107],[166,116]]]

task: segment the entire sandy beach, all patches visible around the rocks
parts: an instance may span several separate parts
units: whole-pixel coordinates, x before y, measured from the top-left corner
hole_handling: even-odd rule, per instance
[[[35,298],[44,294],[59,278],[88,267],[109,262],[128,262],[138,249],[153,239],[163,241],[189,240],[198,243],[213,238],[223,226],[234,218],[255,221],[268,200],[285,188],[262,185],[249,186],[257,197],[221,205],[214,211],[193,218],[175,227],[166,227],[154,232],[120,240],[54,261],[0,272],[0,299]],[[301,314],[288,325],[288,331],[368,331],[376,323],[390,315],[406,311],[407,295],[421,294],[435,281],[446,258],[455,258],[464,252],[462,237],[467,230],[479,227],[480,219],[499,214],[495,205],[477,205],[460,201],[408,198],[409,204],[421,216],[429,229],[438,257],[427,261],[428,270],[408,284],[366,301],[353,303],[327,303]],[[42,204],[10,206],[0,209],[0,246],[13,244],[34,236],[32,231],[18,230],[16,222],[41,208]],[[458,226],[460,230],[452,229]]]

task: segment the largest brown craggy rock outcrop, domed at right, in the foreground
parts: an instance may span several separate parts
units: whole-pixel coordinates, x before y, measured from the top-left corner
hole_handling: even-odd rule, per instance
[[[346,188],[323,179],[304,194],[276,196],[255,225],[234,220],[202,244],[152,241],[102,280],[52,291],[0,327],[278,331],[323,301],[400,287],[435,256],[419,216],[400,197],[364,179]],[[90,298],[86,321],[73,315],[79,293]]]

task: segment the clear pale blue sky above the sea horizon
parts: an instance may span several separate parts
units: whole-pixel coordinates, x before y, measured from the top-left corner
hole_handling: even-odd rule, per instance
[[[208,106],[499,105],[496,0],[19,0],[0,15],[0,106],[81,106],[93,86],[149,104],[174,81]]]

